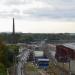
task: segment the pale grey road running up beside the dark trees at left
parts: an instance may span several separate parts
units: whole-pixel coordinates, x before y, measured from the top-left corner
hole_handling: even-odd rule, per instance
[[[29,57],[29,50],[24,50],[18,56],[18,64],[17,64],[17,75],[24,75],[23,66],[27,62],[27,58]]]

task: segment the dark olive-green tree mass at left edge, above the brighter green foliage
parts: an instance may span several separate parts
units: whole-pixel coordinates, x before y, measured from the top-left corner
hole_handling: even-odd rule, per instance
[[[15,57],[18,54],[18,46],[6,46],[0,43],[0,63],[4,64],[6,68],[13,65]]]

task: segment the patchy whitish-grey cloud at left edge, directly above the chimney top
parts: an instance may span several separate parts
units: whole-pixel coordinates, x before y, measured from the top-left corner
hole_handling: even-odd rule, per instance
[[[11,9],[11,10],[2,10],[0,11],[0,17],[15,17],[15,18],[18,18],[18,19],[24,19],[24,18],[29,18],[28,16],[29,14],[26,12],[26,13],[22,13],[20,12],[20,10],[18,9]]]

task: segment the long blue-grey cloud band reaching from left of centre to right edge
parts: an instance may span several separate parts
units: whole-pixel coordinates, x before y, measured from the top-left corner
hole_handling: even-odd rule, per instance
[[[75,11],[51,11],[49,9],[40,9],[35,11],[29,11],[29,14],[35,18],[49,18],[49,19],[58,19],[58,18],[66,18],[66,19],[75,19]]]

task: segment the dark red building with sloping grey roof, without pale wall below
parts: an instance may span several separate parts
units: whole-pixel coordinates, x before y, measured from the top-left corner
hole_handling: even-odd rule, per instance
[[[75,43],[56,45],[55,58],[59,62],[75,60]]]

